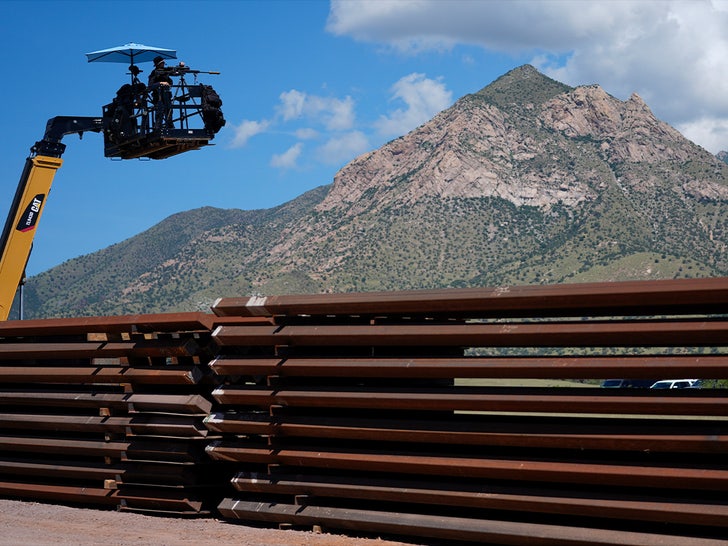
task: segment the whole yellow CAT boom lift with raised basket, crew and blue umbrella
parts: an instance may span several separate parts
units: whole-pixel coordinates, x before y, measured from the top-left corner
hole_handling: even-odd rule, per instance
[[[113,52],[117,57],[109,58],[124,59],[118,57],[119,52],[123,55],[130,49],[137,51],[131,46],[146,48],[127,44],[95,53]],[[160,55],[160,52],[167,58],[175,57],[174,51],[167,49],[147,48],[143,52],[136,53],[138,62],[147,57],[151,60],[151,55]],[[94,54],[87,55],[89,61],[96,60],[91,58]],[[111,103],[103,107],[101,117],[51,118],[43,139],[30,150],[0,238],[0,321],[8,319],[18,287],[24,282],[33,237],[53,177],[63,164],[61,156],[66,145],[61,140],[65,135],[103,133],[106,157],[164,159],[208,145],[225,125],[220,97],[212,86],[197,83],[197,75],[203,72],[180,63],[163,68],[170,78],[177,78],[172,85],[147,87],[138,79],[141,70],[134,65],[134,53],[130,58],[131,83],[117,91]],[[187,82],[190,77],[194,79],[193,83]],[[20,316],[22,318],[22,298]]]

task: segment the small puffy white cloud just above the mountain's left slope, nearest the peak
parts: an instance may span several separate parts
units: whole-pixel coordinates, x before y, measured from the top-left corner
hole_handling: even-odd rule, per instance
[[[384,136],[403,135],[429,120],[452,104],[452,93],[438,80],[424,74],[409,74],[392,86],[394,99],[405,103],[400,108],[382,116],[375,126]]]

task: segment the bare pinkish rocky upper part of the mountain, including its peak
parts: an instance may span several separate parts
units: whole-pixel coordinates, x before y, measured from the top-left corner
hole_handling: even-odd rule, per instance
[[[684,161],[696,149],[637,94],[620,101],[599,85],[572,88],[524,65],[352,161],[319,210],[351,215],[425,197],[576,205],[603,189],[603,180],[592,183],[603,168]]]

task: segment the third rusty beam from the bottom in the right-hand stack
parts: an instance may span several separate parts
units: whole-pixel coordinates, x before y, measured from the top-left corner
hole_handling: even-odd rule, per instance
[[[648,487],[726,491],[728,470],[690,467],[658,467],[529,459],[488,459],[443,455],[387,454],[370,452],[304,451],[241,447],[211,442],[206,451],[213,460],[263,463],[289,467],[325,468],[347,471],[388,472],[483,478],[502,481],[593,484],[601,486]]]

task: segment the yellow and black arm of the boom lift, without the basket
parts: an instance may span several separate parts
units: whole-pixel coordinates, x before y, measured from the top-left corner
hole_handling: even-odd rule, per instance
[[[103,131],[99,117],[56,116],[48,120],[45,135],[30,149],[0,238],[0,321],[7,320],[33,246],[35,228],[63,163],[65,135]]]

